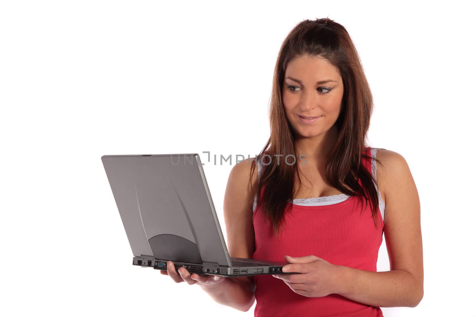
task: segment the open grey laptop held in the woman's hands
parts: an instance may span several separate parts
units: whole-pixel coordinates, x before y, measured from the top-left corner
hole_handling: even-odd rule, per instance
[[[283,273],[288,263],[230,257],[200,156],[101,157],[133,253],[132,265],[225,277]],[[251,212],[251,211],[250,211]]]

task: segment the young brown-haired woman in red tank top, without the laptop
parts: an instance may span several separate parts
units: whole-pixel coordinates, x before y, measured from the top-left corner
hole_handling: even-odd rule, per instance
[[[372,95],[347,30],[331,19],[300,22],[273,82],[268,143],[228,178],[228,251],[301,274],[198,276],[171,262],[162,273],[242,311],[256,298],[255,316],[370,317],[383,316],[379,307],[417,306],[417,188],[400,154],[366,145]],[[390,270],[377,272],[384,232]]]

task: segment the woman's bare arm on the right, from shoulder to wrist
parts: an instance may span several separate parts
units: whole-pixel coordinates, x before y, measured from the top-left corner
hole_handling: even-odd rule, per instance
[[[390,271],[339,266],[338,294],[377,307],[415,307],[423,298],[423,246],[420,201],[406,160],[377,150],[377,180],[385,197],[384,232]],[[382,166],[382,168],[380,168]]]

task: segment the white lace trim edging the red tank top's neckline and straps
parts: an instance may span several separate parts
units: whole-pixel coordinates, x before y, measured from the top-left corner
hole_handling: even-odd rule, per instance
[[[372,148],[370,152],[372,154],[372,157],[375,158],[377,154],[377,149]],[[260,160],[257,160],[256,163],[257,163],[258,177],[259,177],[263,167],[261,166]],[[372,160],[372,175],[377,180],[377,164],[374,160]],[[379,190],[377,190],[377,193],[378,193],[378,207],[380,208],[380,212],[382,213],[382,220],[383,220],[385,204],[382,200],[382,196],[380,195]],[[322,196],[322,197],[294,198],[293,204],[300,205],[300,206],[326,206],[326,205],[333,205],[339,202],[343,202],[347,200],[347,198],[349,197],[350,197],[349,195],[345,193],[341,193],[337,195]],[[258,195],[255,195],[255,201],[253,202],[253,212],[255,212],[255,209],[256,209],[257,199],[258,199]]]

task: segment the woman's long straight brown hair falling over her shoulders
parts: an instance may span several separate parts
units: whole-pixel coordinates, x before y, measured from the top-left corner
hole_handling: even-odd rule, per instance
[[[325,165],[325,177],[328,183],[339,191],[358,196],[360,202],[370,203],[372,217],[377,228],[378,195],[374,187],[376,180],[362,163],[366,145],[367,130],[373,110],[373,98],[364,70],[347,30],[339,23],[328,19],[306,19],[297,24],[284,40],[276,62],[273,89],[269,108],[271,134],[256,160],[266,162],[267,156],[294,155],[297,162],[297,150],[294,132],[284,111],[281,87],[289,61],[300,56],[319,56],[337,67],[344,84],[341,113],[336,125],[339,130],[337,142],[329,153]],[[292,208],[294,180],[299,170],[297,163],[279,164],[271,160],[258,178],[257,205],[272,221],[275,234],[285,220],[285,213]],[[377,160],[377,162],[379,162]],[[380,163],[380,162],[379,162]],[[256,167],[252,163],[251,174]],[[251,176],[251,175],[250,175]],[[251,179],[251,177],[250,177]],[[362,186],[358,183],[361,180]],[[345,186],[347,185],[348,188]],[[263,192],[261,200],[260,193]],[[289,208],[286,209],[289,202]]]

